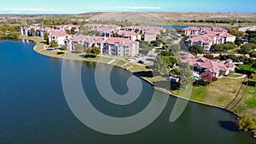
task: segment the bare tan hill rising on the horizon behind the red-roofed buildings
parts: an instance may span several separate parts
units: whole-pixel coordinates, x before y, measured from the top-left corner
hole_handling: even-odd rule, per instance
[[[161,24],[178,20],[219,20],[219,19],[252,19],[256,21],[256,14],[227,14],[227,13],[177,13],[177,12],[102,12],[76,14],[88,16],[89,20],[128,20],[133,23]]]

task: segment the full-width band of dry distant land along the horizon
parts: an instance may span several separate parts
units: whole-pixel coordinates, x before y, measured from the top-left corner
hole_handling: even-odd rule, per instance
[[[46,19],[128,20],[143,25],[168,25],[179,20],[250,20],[256,23],[256,14],[195,13],[195,12],[93,12],[84,14],[45,14]],[[44,19],[44,14],[0,14],[0,19]]]

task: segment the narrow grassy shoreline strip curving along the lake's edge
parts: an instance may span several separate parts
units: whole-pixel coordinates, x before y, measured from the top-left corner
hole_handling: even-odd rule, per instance
[[[73,55],[75,57],[64,57],[64,55],[56,55],[56,54],[53,54],[53,52],[56,52],[56,51],[49,51],[49,53],[44,53],[44,51],[46,51],[44,49],[44,44],[43,43],[38,43],[37,40],[34,40],[33,38],[38,38],[38,37],[19,37],[19,39],[26,39],[26,40],[29,40],[29,41],[32,41],[33,43],[36,43],[35,46],[33,47],[33,50],[35,52],[37,52],[39,55],[44,55],[44,56],[48,56],[48,57],[52,57],[52,58],[55,58],[55,59],[67,59],[67,60],[82,60],[82,61],[87,61],[87,62],[101,62],[103,64],[107,64],[107,65],[112,65],[112,66],[117,66],[116,64],[111,64],[111,63],[108,63],[108,62],[103,62],[103,61],[99,61],[99,57],[105,57],[105,58],[109,58],[109,59],[113,59],[113,58],[116,58],[116,59],[119,59],[119,60],[123,60],[123,59],[120,59],[116,56],[106,56],[106,55],[100,55],[100,56],[97,56],[96,59],[84,59],[83,57],[80,57],[78,54],[72,54],[72,53],[66,53],[66,54],[70,54],[70,55]],[[38,39],[39,40],[39,39]],[[41,39],[42,40],[42,39]],[[43,44],[43,49],[41,48],[40,49],[40,44]],[[52,53],[52,54],[51,54]],[[127,63],[130,63],[129,61],[126,61]],[[137,66],[141,66],[141,65],[138,65],[136,64]],[[201,105],[205,105],[205,106],[208,106],[208,107],[216,107],[216,108],[219,108],[219,109],[222,109],[226,112],[231,112],[233,113],[234,115],[236,115],[237,118],[240,118],[240,116],[238,114],[236,114],[235,112],[232,112],[230,111],[229,109],[225,108],[225,107],[220,107],[220,106],[217,106],[217,105],[213,105],[213,104],[209,104],[209,103],[205,103],[205,102],[201,102],[201,101],[194,101],[194,100],[190,100],[188,98],[184,98],[182,96],[179,96],[179,95],[174,95],[172,94],[170,91],[166,90],[166,89],[163,89],[163,88],[160,88],[160,87],[157,87],[155,86],[154,83],[152,83],[151,81],[149,81],[147,78],[143,78],[141,77],[140,75],[138,75],[137,73],[135,72],[132,72],[130,69],[127,69],[127,68],[124,68],[122,66],[117,66],[119,68],[122,68],[124,69],[125,71],[127,72],[130,72],[131,74],[135,75],[137,78],[140,78],[142,79],[143,81],[145,81],[146,83],[152,85],[154,87],[154,89],[156,90],[159,90],[160,92],[162,93],[165,93],[166,95],[170,95],[170,96],[173,96],[173,97],[176,97],[176,98],[179,98],[179,99],[183,99],[185,101],[190,101],[190,102],[194,102],[194,103],[197,103],[197,104],[201,104]],[[138,71],[139,72],[139,71]]]

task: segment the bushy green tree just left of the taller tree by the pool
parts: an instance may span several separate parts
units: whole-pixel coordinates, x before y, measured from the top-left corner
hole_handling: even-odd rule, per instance
[[[154,60],[154,71],[160,72],[161,75],[167,74],[167,66],[161,55],[157,55]]]

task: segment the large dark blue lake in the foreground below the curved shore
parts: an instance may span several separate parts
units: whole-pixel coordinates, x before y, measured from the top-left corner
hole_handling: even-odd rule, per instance
[[[254,144],[249,132],[237,130],[236,116],[215,107],[189,102],[182,116],[170,123],[177,98],[170,96],[154,123],[129,135],[107,135],[91,130],[76,118],[67,105],[61,85],[62,60],[38,55],[34,43],[0,42],[0,143],[54,144]],[[77,61],[73,61],[76,63]],[[103,69],[108,65],[101,64]],[[128,117],[143,110],[153,87],[143,84],[137,101],[115,107],[96,89],[96,63],[84,62],[82,82],[88,99],[101,112]],[[102,71],[102,74],[104,72]],[[111,84],[119,94],[127,92],[131,73],[114,67]],[[161,98],[163,93],[156,92]]]

